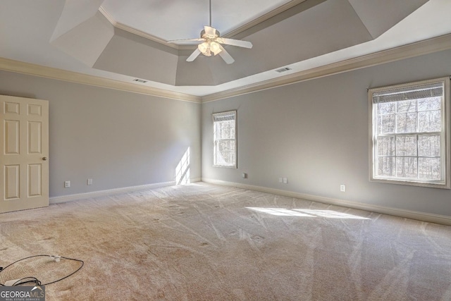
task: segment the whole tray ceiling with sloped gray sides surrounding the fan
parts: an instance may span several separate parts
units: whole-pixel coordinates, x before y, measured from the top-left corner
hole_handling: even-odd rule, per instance
[[[297,73],[451,33],[450,0],[211,1],[212,25],[221,35],[232,32],[233,38],[254,44],[228,49],[235,58],[230,66],[213,57],[187,63],[192,50],[164,42],[198,37],[209,23],[207,0],[0,0],[0,57],[123,82],[145,75],[140,78],[149,82],[137,85],[204,96],[286,75],[274,72],[280,67]],[[246,27],[280,6],[289,9]],[[106,34],[87,42],[97,29]],[[142,37],[151,40],[142,42]],[[158,57],[146,65],[134,57],[139,51]],[[167,80],[155,77],[166,70]],[[199,79],[200,70],[220,83],[185,85],[190,75]]]

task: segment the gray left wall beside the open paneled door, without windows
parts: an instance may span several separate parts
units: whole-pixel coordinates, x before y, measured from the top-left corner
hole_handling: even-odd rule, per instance
[[[173,181],[188,147],[201,176],[200,104],[4,71],[0,94],[49,100],[50,197]]]

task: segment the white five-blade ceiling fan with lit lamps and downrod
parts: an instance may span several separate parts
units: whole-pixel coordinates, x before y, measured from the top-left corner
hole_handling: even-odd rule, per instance
[[[216,56],[216,54],[219,54],[221,58],[226,63],[233,63],[235,60],[233,59],[230,54],[224,49],[222,44],[225,45],[232,45],[237,47],[244,47],[244,48],[252,48],[252,43],[247,41],[242,41],[240,39],[228,39],[226,37],[221,37],[218,30],[216,28],[211,27],[211,0],[209,0],[210,4],[210,23],[209,26],[204,26],[204,30],[200,32],[200,38],[199,39],[175,39],[168,41],[168,43],[176,43],[176,42],[202,42],[201,44],[197,45],[196,50],[187,58],[186,61],[194,61],[194,59],[199,56],[199,54],[204,54],[204,56],[211,56],[213,54]]]

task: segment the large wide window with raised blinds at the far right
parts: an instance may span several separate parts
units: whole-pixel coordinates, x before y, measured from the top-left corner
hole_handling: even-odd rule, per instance
[[[449,81],[369,90],[370,180],[450,188]]]

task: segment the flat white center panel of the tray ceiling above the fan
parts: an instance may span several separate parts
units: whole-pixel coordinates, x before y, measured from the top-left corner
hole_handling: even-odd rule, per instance
[[[226,35],[288,2],[211,0],[211,25]],[[166,41],[199,37],[209,25],[209,0],[104,0],[101,6],[118,23]]]

